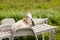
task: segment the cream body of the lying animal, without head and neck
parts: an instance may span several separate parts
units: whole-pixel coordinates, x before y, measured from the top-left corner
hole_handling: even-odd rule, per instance
[[[18,30],[20,28],[29,27],[29,24],[25,23],[24,20],[20,20],[12,25],[12,30]]]

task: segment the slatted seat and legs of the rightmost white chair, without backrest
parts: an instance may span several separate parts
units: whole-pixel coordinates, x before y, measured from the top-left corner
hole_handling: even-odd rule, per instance
[[[53,30],[55,29],[55,27],[50,26],[48,24],[40,24],[40,25],[33,26],[31,28],[34,31],[34,33],[36,34],[36,36],[38,34],[42,34],[43,40],[44,40],[44,33],[47,32],[47,31],[50,32],[49,40],[52,40]]]

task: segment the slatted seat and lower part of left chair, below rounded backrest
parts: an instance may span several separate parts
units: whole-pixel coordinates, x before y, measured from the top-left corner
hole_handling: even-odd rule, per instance
[[[0,25],[0,40],[3,38],[11,39],[11,31],[9,31],[11,25]]]

